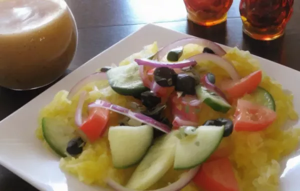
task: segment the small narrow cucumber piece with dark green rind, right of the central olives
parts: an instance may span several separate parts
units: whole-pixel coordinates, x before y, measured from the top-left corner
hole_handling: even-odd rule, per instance
[[[225,113],[231,108],[231,105],[223,97],[219,96],[214,91],[210,91],[204,86],[197,86],[196,94],[197,97],[215,111]]]

